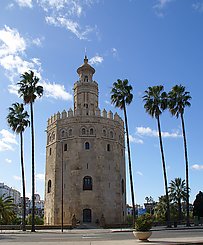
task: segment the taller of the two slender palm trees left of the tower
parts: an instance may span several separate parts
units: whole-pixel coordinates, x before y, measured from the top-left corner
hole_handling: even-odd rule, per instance
[[[30,104],[31,118],[31,137],[32,137],[32,228],[35,232],[35,161],[34,161],[34,121],[33,121],[33,104],[37,97],[43,95],[43,87],[38,85],[39,78],[34,75],[33,71],[25,72],[21,75],[22,80],[18,82],[20,86],[18,93],[23,97],[25,104]]]

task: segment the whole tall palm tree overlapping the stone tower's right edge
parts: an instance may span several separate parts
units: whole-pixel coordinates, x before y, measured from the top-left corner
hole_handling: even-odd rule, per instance
[[[130,188],[131,188],[131,198],[133,205],[133,223],[135,221],[135,199],[134,199],[134,190],[133,190],[133,176],[132,176],[132,164],[130,156],[130,143],[129,143],[129,133],[128,133],[128,120],[127,120],[127,111],[126,105],[129,105],[132,102],[133,94],[131,93],[132,86],[128,84],[128,80],[117,79],[117,82],[113,83],[113,88],[111,90],[111,103],[115,104],[115,107],[120,108],[124,111],[124,120],[126,128],[126,138],[127,138],[127,148],[128,148],[128,166],[130,174]]]

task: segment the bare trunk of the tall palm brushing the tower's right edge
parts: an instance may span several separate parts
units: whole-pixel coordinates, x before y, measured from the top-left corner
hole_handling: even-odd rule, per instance
[[[130,156],[130,142],[129,142],[129,133],[128,133],[128,120],[127,120],[127,112],[124,102],[124,119],[125,119],[125,128],[126,128],[126,138],[127,138],[127,148],[128,148],[128,166],[129,166],[129,174],[130,174],[130,189],[131,189],[131,198],[132,198],[132,206],[133,206],[133,225],[135,223],[135,198],[134,198],[134,188],[133,188],[133,176],[132,176],[132,164],[131,164],[131,156]]]

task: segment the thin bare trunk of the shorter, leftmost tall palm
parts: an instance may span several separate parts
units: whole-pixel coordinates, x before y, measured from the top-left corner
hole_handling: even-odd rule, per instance
[[[21,172],[22,172],[22,187],[23,187],[23,219],[22,219],[22,230],[26,231],[25,227],[25,216],[26,216],[26,200],[25,200],[25,172],[24,172],[24,161],[23,161],[23,133],[20,132],[20,157],[21,157]]]

